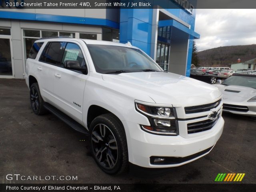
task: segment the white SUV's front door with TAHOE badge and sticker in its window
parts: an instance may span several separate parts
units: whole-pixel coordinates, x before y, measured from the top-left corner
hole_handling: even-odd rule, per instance
[[[79,61],[81,67],[88,69],[88,62],[79,42],[66,42],[61,64],[54,71],[54,94],[56,107],[82,124],[84,88],[88,74],[64,68],[65,60]]]

